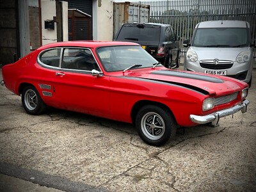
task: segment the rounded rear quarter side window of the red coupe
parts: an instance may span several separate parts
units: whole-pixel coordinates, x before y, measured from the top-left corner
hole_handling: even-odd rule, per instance
[[[60,53],[61,49],[49,49],[39,56],[39,61],[51,67],[60,67]]]

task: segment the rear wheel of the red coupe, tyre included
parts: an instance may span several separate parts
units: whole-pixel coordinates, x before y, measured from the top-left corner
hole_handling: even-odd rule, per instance
[[[23,108],[30,115],[40,115],[46,109],[44,101],[34,86],[26,86],[24,88],[21,100]]]

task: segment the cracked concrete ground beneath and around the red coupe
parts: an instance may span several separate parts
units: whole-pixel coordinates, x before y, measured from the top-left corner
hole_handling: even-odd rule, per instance
[[[130,124],[58,109],[28,115],[0,86],[0,191],[256,191],[256,69],[248,100],[244,115],[152,147]]]

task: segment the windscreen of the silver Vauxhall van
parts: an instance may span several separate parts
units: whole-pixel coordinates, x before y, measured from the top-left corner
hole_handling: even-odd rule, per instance
[[[245,47],[246,28],[198,28],[192,42],[195,47]]]

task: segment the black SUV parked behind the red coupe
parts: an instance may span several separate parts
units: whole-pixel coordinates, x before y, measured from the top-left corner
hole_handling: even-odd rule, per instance
[[[179,36],[175,35],[170,24],[122,24],[114,40],[136,42],[165,67],[179,67]]]

